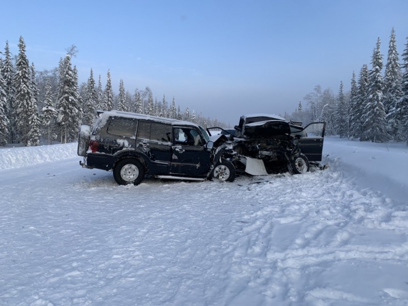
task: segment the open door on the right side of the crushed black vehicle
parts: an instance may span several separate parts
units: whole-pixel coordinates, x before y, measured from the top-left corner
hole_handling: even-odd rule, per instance
[[[295,135],[300,136],[300,151],[308,157],[309,161],[322,160],[325,128],[325,122],[312,122],[305,126],[300,132],[295,133]]]

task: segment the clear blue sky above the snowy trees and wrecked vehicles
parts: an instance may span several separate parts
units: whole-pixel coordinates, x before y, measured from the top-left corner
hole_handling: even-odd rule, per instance
[[[7,1],[0,50],[20,36],[37,70],[78,48],[80,82],[90,69],[117,93],[149,86],[182,110],[237,124],[242,114],[294,111],[315,85],[349,90],[369,67],[377,37],[384,64],[394,27],[401,55],[408,1]],[[2,46],[3,43],[3,46]],[[303,107],[305,107],[305,102]]]

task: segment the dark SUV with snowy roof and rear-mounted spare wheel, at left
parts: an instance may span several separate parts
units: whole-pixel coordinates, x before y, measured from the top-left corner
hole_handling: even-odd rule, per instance
[[[83,168],[113,171],[121,185],[139,184],[145,174],[166,179],[233,181],[232,150],[225,135],[209,136],[185,121],[131,112],[98,112],[92,128],[81,126],[78,155]]]

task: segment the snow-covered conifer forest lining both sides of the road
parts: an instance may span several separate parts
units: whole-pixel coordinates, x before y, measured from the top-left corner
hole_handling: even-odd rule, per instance
[[[326,135],[408,143],[408,37],[401,56],[394,29],[386,58],[381,54],[379,38],[373,46],[371,62],[356,67],[350,72],[350,80],[345,80],[349,91],[344,91],[343,81],[337,93],[316,85],[294,112],[281,115],[303,125],[325,121]],[[163,95],[158,101],[148,86],[130,91],[120,80],[115,93],[109,70],[105,86],[100,75],[95,78],[91,67],[87,82],[79,84],[73,64],[75,46],[67,50],[58,67],[43,71],[36,71],[34,63],[30,64],[25,48],[20,37],[17,55],[10,53],[8,41],[0,53],[0,146],[75,142],[79,127],[94,122],[96,110],[117,109],[190,121],[203,127],[227,127],[189,107],[181,110],[175,97],[170,102]]]

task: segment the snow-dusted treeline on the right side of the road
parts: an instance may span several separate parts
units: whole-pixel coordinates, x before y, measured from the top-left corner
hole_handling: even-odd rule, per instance
[[[287,119],[308,123],[326,121],[326,134],[339,135],[360,141],[408,142],[408,37],[402,53],[402,64],[392,29],[388,58],[382,74],[383,60],[378,38],[371,57],[371,69],[363,64],[358,80],[352,73],[350,91],[343,92],[340,82],[338,94],[320,85],[304,97]]]

